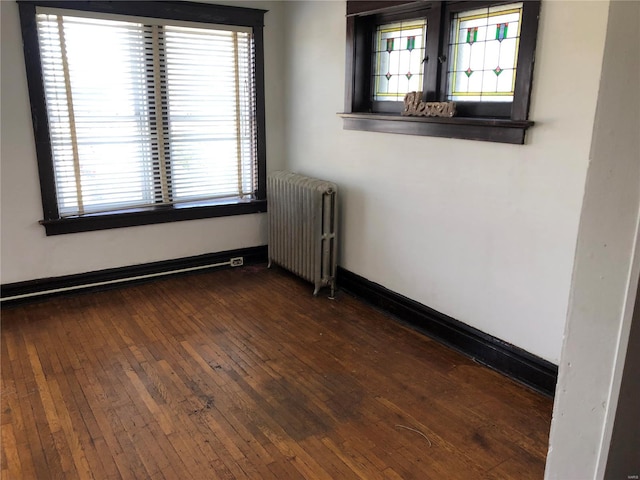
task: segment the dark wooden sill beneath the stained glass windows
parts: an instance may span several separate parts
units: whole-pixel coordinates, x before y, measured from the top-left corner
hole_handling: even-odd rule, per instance
[[[345,130],[462,138],[523,145],[528,120],[465,117],[403,117],[379,113],[339,113]]]

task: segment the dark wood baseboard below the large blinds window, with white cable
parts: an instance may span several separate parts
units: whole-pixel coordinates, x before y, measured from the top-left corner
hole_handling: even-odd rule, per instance
[[[244,265],[264,263],[267,261],[267,246],[240,248],[75,275],[8,283],[0,286],[0,297],[4,308],[52,296],[95,292],[116,288],[124,284],[148,282],[160,275],[180,275],[215,268],[230,268],[230,265],[217,264],[229,262],[231,258],[235,257],[242,257]],[[208,267],[209,265],[211,266],[210,268]],[[187,270],[186,272],[184,271],[185,269]],[[145,276],[151,277],[144,278]]]

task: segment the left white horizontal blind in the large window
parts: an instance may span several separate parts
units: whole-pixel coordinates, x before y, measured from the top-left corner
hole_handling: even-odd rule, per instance
[[[144,27],[45,14],[37,22],[60,215],[149,204]]]

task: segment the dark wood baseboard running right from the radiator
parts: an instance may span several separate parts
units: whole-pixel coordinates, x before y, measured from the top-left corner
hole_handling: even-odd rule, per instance
[[[558,367],[382,285],[338,267],[338,286],[478,362],[553,397]]]

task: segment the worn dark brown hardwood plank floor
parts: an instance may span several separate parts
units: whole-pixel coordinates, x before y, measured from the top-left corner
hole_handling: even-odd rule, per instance
[[[552,401],[280,270],[2,311],[3,479],[542,478]]]

